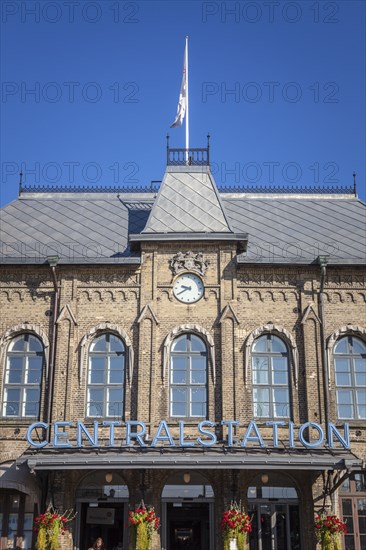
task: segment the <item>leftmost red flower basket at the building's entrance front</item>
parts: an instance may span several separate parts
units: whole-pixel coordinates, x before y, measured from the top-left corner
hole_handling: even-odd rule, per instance
[[[49,508],[35,519],[34,531],[37,533],[37,550],[58,550],[60,537],[67,532],[67,524],[76,516],[72,510],[60,514]]]

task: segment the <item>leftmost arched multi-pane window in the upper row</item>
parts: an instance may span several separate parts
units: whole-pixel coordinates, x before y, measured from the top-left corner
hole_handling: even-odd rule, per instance
[[[38,417],[43,362],[43,345],[32,334],[22,334],[10,342],[6,355],[3,416]]]

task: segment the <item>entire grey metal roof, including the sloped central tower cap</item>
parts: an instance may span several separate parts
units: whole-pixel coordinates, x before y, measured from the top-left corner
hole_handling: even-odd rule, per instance
[[[238,263],[366,264],[366,205],[345,195],[220,195],[207,167],[167,167],[154,193],[22,193],[0,211],[0,262],[139,263],[137,240],[248,237]],[[165,236],[165,237],[164,237]],[[220,237],[221,236],[221,237]]]

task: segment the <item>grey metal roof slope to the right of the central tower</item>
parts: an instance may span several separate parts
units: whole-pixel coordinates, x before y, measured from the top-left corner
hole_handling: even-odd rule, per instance
[[[239,263],[366,264],[366,205],[356,198],[225,197],[233,231],[247,231]]]

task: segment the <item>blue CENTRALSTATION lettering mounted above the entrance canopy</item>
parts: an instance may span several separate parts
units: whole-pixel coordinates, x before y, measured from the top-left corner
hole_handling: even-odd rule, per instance
[[[175,437],[176,426],[174,426],[174,436],[172,435],[172,426],[166,420],[161,420],[156,432],[152,437],[147,435],[147,427],[144,422],[139,420],[94,420],[92,426],[86,426],[84,422],[58,421],[53,423],[53,438],[51,441],[40,439],[38,429],[48,430],[50,425],[45,422],[34,422],[29,426],[26,434],[29,445],[36,449],[41,449],[49,445],[50,447],[60,449],[100,447],[98,442],[99,430],[103,429],[102,446],[108,448],[130,447],[138,444],[140,447],[213,447],[223,444],[218,441],[215,433],[217,426],[223,426],[226,431],[226,440],[224,445],[227,447],[261,447],[278,448],[285,442],[290,449],[305,447],[315,449],[317,447],[327,446],[334,449],[335,445],[340,445],[345,449],[350,449],[349,425],[343,424],[343,428],[338,428],[331,422],[327,424],[326,433],[320,424],[315,422],[305,422],[300,426],[295,426],[293,422],[281,420],[268,420],[265,422],[265,428],[271,430],[271,439],[266,441],[261,434],[261,429],[254,420],[247,425],[237,420],[221,420],[221,422],[211,422],[203,420],[196,426],[197,437],[192,439],[192,426],[189,426],[189,435],[183,420],[178,422],[178,435]],[[107,430],[108,439],[105,440]],[[281,432],[279,432],[281,430]],[[342,431],[342,433],[341,433]],[[235,433],[234,433],[235,432]],[[279,436],[281,435],[281,441]],[[285,439],[285,441],[284,441]]]

